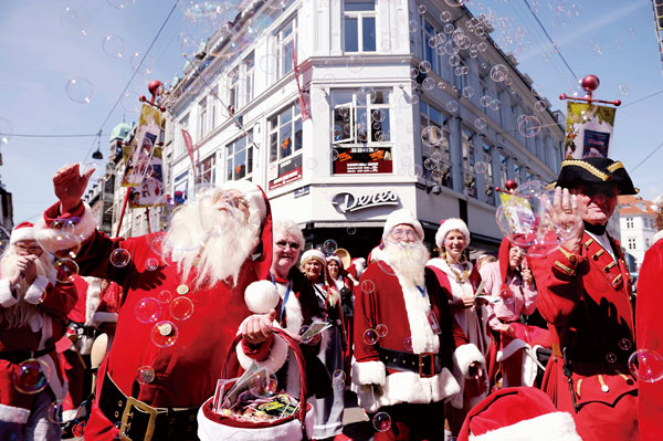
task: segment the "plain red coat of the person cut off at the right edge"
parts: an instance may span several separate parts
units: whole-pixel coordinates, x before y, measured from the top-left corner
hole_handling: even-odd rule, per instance
[[[663,321],[661,319],[661,274],[663,240],[644,254],[638,279],[635,326],[638,348],[655,350],[663,356]],[[657,441],[663,435],[663,382],[639,381],[639,424],[643,441]]]

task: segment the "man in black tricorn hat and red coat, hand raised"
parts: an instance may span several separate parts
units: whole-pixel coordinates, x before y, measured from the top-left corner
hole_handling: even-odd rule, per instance
[[[628,369],[631,279],[606,232],[618,195],[638,190],[609,158],[564,160],[554,186],[548,212],[571,234],[550,255],[532,259],[537,306],[554,338],[543,390],[573,414],[582,440],[638,440],[638,387]]]

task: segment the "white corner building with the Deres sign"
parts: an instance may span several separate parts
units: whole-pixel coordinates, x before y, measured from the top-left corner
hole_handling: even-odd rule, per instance
[[[352,255],[376,246],[386,217],[402,207],[422,222],[429,244],[441,219],[457,217],[476,250],[495,251],[502,234],[494,188],[507,179],[555,179],[564,140],[558,115],[533,95],[515,57],[495,48],[490,25],[464,7],[253,4],[251,20],[272,17],[266,32],[241,50],[214,35],[171,90],[170,193],[251,179],[274,216],[304,228],[307,242],[333,239]],[[240,18],[232,34],[248,25]],[[492,78],[498,65],[508,81]],[[196,174],[182,129],[193,138]]]

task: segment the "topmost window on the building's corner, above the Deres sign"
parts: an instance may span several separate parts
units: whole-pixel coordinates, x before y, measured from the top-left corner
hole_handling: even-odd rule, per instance
[[[376,1],[345,0],[345,52],[376,51]]]

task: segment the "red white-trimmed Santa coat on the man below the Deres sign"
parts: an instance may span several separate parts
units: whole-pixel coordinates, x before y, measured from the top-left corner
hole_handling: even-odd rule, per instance
[[[393,274],[383,261],[371,263],[359,281],[359,285],[365,286],[364,292],[355,298],[357,363],[352,366],[352,382],[359,387],[380,385],[382,389],[381,395],[373,395],[370,388],[360,388],[360,405],[369,412],[403,402],[438,402],[459,393],[459,384],[450,371],[453,364],[461,365],[469,375],[470,365],[481,359],[476,347],[467,345],[457,327],[454,329],[446,298],[430,270],[425,271],[425,286],[421,287],[425,296],[417,286]],[[428,311],[433,311],[438,317],[442,329],[439,336],[431,329],[425,316]],[[387,336],[376,345],[367,344],[364,333],[380,324],[388,326]],[[444,368],[431,378],[387,369],[378,356],[378,346],[413,354],[433,351],[434,348],[442,357]]]

